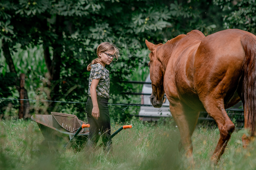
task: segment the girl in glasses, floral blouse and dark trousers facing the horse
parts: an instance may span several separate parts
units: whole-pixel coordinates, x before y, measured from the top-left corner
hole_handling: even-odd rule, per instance
[[[118,59],[119,50],[109,42],[101,43],[97,48],[97,59],[92,60],[87,70],[91,71],[89,78],[89,98],[86,103],[86,113],[89,127],[87,146],[97,145],[100,138],[99,130],[104,143],[104,150],[110,151],[112,140],[110,134],[109,117],[109,71],[105,65],[109,65],[114,58]]]

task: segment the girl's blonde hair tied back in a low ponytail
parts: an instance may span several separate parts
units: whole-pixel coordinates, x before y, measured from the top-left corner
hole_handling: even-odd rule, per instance
[[[101,65],[103,65],[102,61],[99,60],[99,53],[108,52],[108,51],[112,51],[112,50],[114,50],[114,54],[115,54],[115,58],[116,58],[115,61],[117,61],[118,57],[120,57],[119,49],[114,44],[112,44],[110,42],[100,43],[100,45],[97,47],[98,58],[92,60],[92,62],[87,66],[87,70],[91,71],[92,64],[100,63]]]

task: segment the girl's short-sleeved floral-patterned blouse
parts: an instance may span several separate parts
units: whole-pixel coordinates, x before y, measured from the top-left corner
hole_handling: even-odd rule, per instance
[[[109,86],[110,86],[109,71],[105,67],[103,67],[100,63],[91,65],[91,73],[89,78],[89,90],[88,90],[88,95],[90,97],[91,97],[90,88],[91,88],[93,79],[100,79],[96,87],[97,97],[105,97],[109,99]]]

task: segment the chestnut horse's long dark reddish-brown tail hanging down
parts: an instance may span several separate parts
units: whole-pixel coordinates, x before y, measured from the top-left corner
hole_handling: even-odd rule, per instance
[[[247,34],[243,35],[241,42],[245,51],[245,61],[242,69],[244,127],[253,136],[256,122],[256,40],[252,35]]]

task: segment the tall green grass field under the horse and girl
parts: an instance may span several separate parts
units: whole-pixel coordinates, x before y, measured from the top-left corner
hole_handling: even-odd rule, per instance
[[[80,152],[61,146],[44,148],[44,140],[33,121],[0,122],[0,169],[256,169],[256,143],[242,148],[244,130],[235,130],[219,164],[210,166],[210,156],[219,139],[217,128],[198,125],[192,137],[195,167],[178,151],[179,130],[161,122],[142,123],[133,118],[132,129],[122,130],[113,138],[113,152],[102,148]],[[112,132],[121,125],[112,124]],[[100,141],[99,141],[100,143]],[[37,152],[40,149],[42,152]]]

